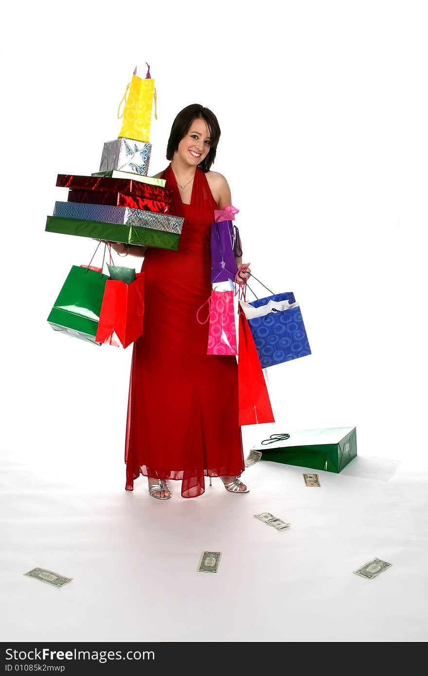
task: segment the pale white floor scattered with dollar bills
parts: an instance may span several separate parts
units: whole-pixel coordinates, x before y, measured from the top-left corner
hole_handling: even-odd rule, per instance
[[[122,464],[79,487],[5,458],[3,641],[427,639],[428,473],[410,463],[359,456],[307,488],[304,469],[259,462],[247,495],[214,479],[192,500],[172,483],[159,502],[143,477],[124,491]],[[260,523],[264,511],[291,527]],[[203,550],[222,552],[216,575],[197,573]],[[352,573],[375,556],[393,565]],[[73,581],[23,576],[35,566]]]

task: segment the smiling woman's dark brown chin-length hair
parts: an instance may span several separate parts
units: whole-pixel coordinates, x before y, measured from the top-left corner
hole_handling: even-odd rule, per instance
[[[200,105],[200,103],[191,103],[191,105],[187,105],[187,107],[179,112],[174,122],[172,122],[170,137],[168,139],[168,145],[166,146],[166,159],[172,160],[181,139],[185,137],[191,123],[197,118],[205,120],[208,129],[210,130],[210,152],[203,162],[198,165],[203,172],[208,172],[216,157],[216,149],[221,132],[218,120],[214,113],[209,108]]]

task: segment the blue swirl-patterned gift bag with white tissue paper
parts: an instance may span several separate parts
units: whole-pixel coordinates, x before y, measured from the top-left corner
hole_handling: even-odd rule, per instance
[[[269,301],[285,300],[289,301],[289,304],[295,303],[294,294],[277,293],[259,298],[249,305],[260,308]],[[262,368],[311,354],[302,313],[298,306],[283,311],[273,308],[269,314],[248,319],[248,324]]]

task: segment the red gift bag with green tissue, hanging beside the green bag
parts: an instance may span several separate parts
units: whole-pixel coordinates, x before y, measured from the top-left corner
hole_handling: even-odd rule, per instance
[[[128,347],[143,335],[144,272],[126,284],[116,279],[105,283],[103,304],[95,341],[116,347]]]

